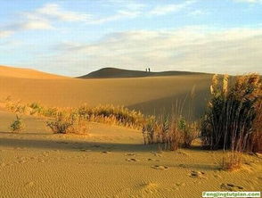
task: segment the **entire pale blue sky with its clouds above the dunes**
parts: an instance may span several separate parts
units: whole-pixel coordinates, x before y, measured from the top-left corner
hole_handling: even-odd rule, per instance
[[[262,71],[262,0],[0,1],[0,64]]]

